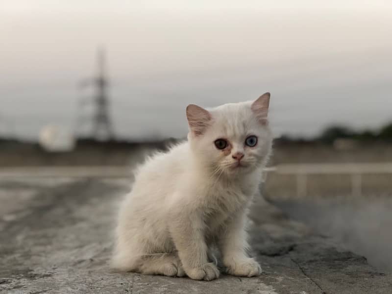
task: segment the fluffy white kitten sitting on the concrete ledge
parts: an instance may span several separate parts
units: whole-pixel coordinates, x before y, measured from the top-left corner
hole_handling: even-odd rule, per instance
[[[209,281],[217,246],[228,273],[261,273],[245,224],[271,150],[269,101],[187,107],[188,142],[149,158],[121,207],[114,268]]]

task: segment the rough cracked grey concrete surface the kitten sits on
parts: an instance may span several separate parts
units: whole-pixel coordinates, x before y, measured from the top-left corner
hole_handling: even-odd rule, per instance
[[[0,293],[391,294],[392,275],[261,198],[251,244],[263,273],[211,282],[108,267],[124,179],[0,179]]]

